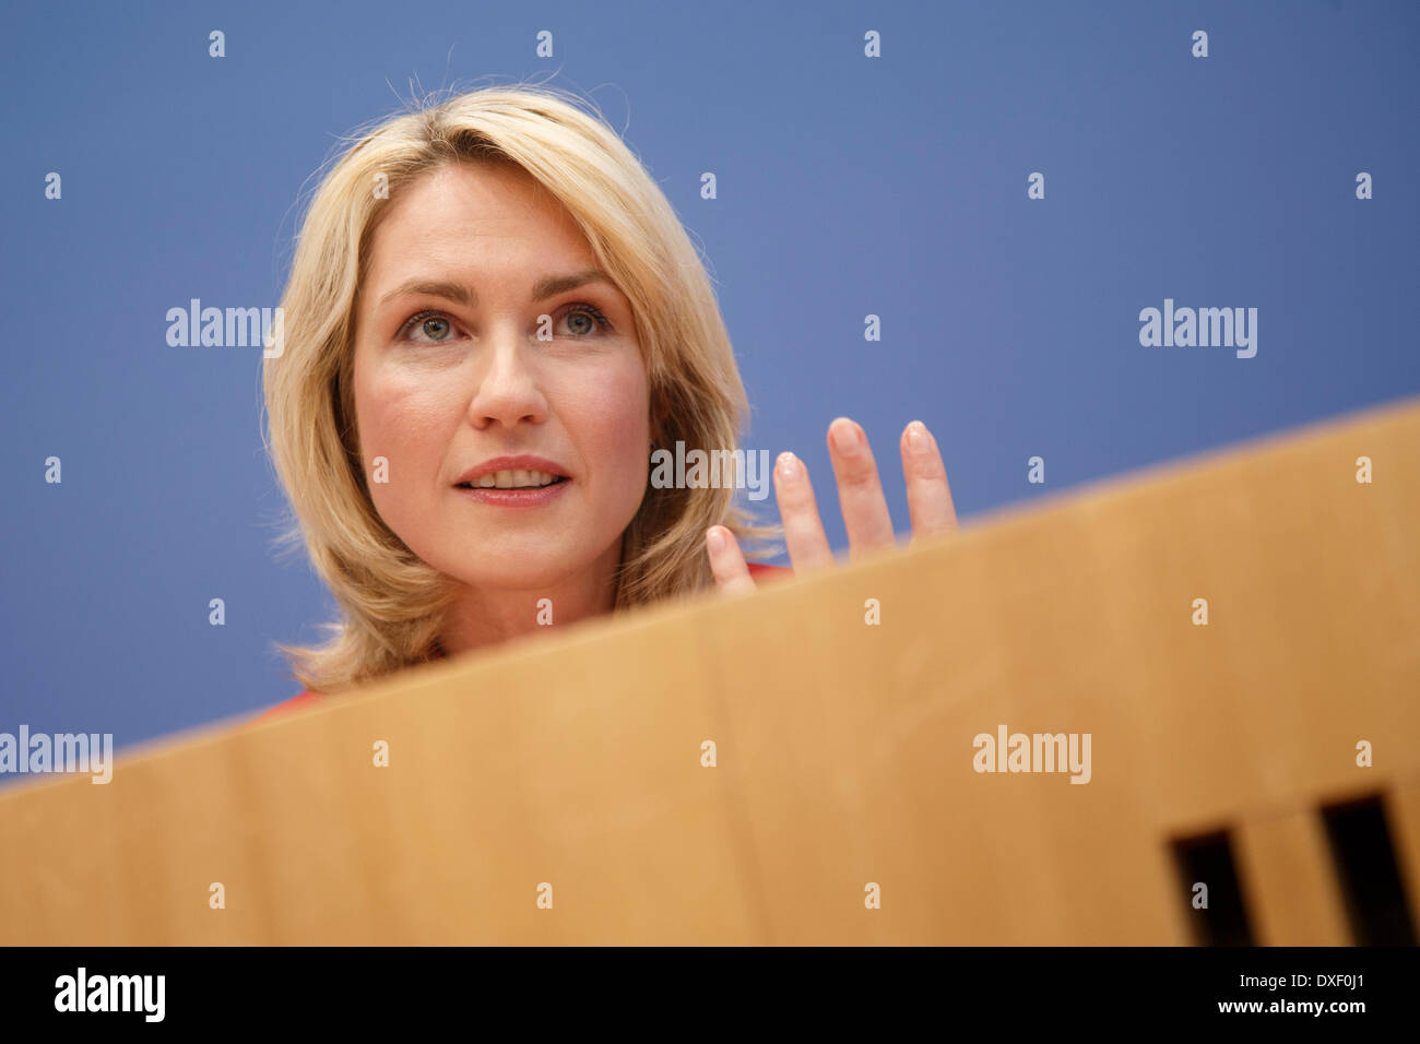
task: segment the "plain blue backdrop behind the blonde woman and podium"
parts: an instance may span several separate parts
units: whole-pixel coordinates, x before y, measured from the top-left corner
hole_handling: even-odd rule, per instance
[[[841,550],[839,413],[868,429],[906,535],[913,418],[967,517],[1420,391],[1413,0],[10,3],[3,20],[0,730],[122,746],[298,690],[273,642],[317,641],[335,609],[304,558],[273,553],[260,349],[169,348],[165,315],[275,305],[305,179],[419,85],[535,77],[595,99],[703,243],[754,403],[746,445],[807,460]],[[1027,199],[1035,170],[1045,200]],[[1140,308],[1166,297],[1258,308],[1257,357],[1140,347]]]

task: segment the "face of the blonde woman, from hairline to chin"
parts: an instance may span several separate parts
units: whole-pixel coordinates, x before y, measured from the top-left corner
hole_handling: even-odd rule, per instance
[[[630,303],[520,168],[446,163],[389,206],[355,325],[379,516],[480,589],[545,591],[615,568],[649,472]]]

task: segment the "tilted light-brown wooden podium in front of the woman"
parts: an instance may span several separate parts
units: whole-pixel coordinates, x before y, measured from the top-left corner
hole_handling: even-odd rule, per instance
[[[10,780],[0,851],[6,945],[1404,942],[1420,403]]]

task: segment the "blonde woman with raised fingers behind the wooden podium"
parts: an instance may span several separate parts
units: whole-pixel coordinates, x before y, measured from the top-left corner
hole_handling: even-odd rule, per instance
[[[552,88],[389,119],[329,169],[267,351],[288,535],[342,609],[281,646],[320,699],[547,622],[788,572],[747,565],[734,483],[657,489],[657,447],[733,450],[747,413],[700,257],[616,134]],[[893,544],[872,452],[829,426],[849,545]],[[913,533],[956,527],[941,456],[902,436]],[[774,487],[794,571],[832,564],[804,464]]]

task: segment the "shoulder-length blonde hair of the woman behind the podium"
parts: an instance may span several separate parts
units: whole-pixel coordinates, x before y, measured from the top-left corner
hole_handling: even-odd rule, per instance
[[[342,616],[324,625],[322,646],[277,646],[308,689],[338,692],[437,658],[437,634],[457,592],[375,511],[351,381],[371,237],[389,197],[432,169],[513,162],[531,173],[571,212],[632,305],[652,445],[738,445],[748,402],[700,256],[640,161],[579,101],[524,84],[416,104],[359,136],[311,199],[281,298],[284,339],[280,354],[267,352],[263,372],[267,450],[294,513],[280,541],[304,538]],[[778,531],[755,526],[730,486],[648,487],[622,538],[618,611],[710,587],[710,526],[750,541],[751,557],[753,544]]]

